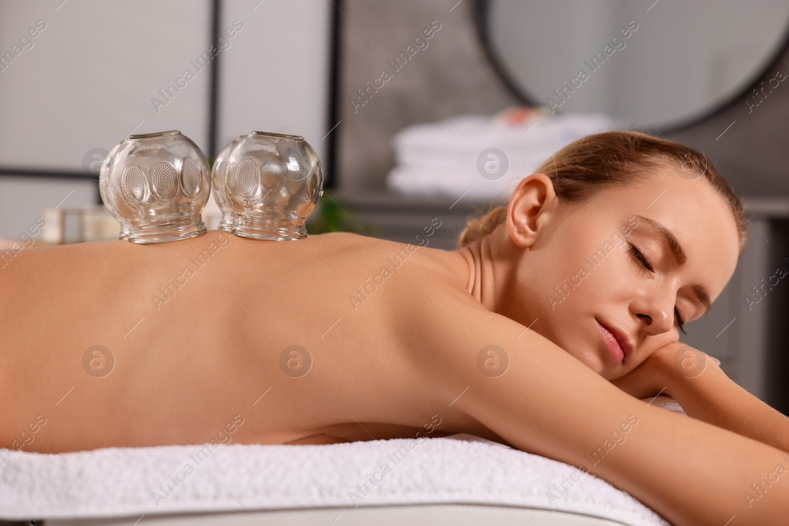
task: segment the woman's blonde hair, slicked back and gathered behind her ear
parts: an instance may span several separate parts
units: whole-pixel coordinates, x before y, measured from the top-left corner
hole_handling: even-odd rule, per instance
[[[560,201],[573,203],[589,199],[604,185],[633,185],[648,177],[649,169],[666,164],[673,165],[679,177],[691,180],[706,177],[712,188],[727,200],[735,215],[742,255],[748,239],[748,219],[742,202],[712,163],[693,148],[641,132],[597,133],[563,147],[538,166],[535,173],[550,177]],[[469,219],[460,234],[459,246],[482,239],[506,218],[507,207],[499,206],[481,217]]]

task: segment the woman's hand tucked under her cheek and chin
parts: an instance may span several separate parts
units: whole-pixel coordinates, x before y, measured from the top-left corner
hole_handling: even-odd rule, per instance
[[[720,362],[716,358],[676,341],[660,347],[633,371],[611,380],[611,383],[637,398],[657,394],[672,396],[671,386],[675,379],[694,378],[705,368],[717,367],[718,364]]]

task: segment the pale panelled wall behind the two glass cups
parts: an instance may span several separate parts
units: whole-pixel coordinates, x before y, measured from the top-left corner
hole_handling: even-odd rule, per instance
[[[327,155],[331,3],[223,0],[220,31],[243,29],[219,52],[219,147],[253,129],[297,133]],[[81,172],[94,148],[136,133],[180,129],[208,155],[210,70],[190,61],[211,47],[211,2],[0,2],[0,54],[36,21],[46,29],[0,71],[0,168]],[[185,69],[170,103],[151,103]],[[0,238],[43,208],[98,200],[88,179],[0,177]],[[97,177],[97,176],[93,176]],[[218,207],[209,200],[207,210]]]

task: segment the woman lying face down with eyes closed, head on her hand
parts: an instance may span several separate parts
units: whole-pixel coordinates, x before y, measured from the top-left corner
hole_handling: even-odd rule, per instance
[[[735,193],[634,132],[537,171],[454,252],[418,246],[440,217],[408,245],[213,231],[24,250],[0,280],[0,443],[331,443],[439,422],[583,466],[675,524],[779,524],[789,420],[712,360],[675,367],[705,359],[678,330],[742,253]],[[661,392],[693,418],[638,400]]]

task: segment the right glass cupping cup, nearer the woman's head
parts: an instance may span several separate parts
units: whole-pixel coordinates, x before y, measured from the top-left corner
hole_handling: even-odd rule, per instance
[[[221,228],[241,237],[296,240],[323,188],[320,160],[304,137],[252,132],[219,152],[211,179]]]

